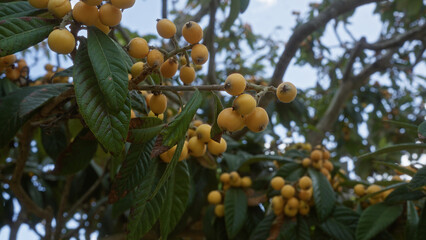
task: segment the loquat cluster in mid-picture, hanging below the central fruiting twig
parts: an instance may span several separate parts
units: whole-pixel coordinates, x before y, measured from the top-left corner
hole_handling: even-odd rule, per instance
[[[208,151],[212,155],[221,155],[226,151],[226,140],[221,138],[220,142],[210,138],[211,126],[201,120],[194,120],[187,131],[187,139],[184,143],[179,161],[189,156],[202,157]],[[176,151],[176,145],[168,151],[160,154],[161,160],[168,163],[172,160]]]

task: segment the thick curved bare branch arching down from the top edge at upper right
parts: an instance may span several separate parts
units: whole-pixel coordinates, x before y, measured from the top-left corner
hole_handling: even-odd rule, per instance
[[[339,15],[352,11],[359,6],[379,1],[383,0],[335,1],[330,4],[330,6],[327,7],[323,12],[318,14],[317,17],[297,27],[291,35],[290,39],[287,41],[284,52],[282,53],[275,67],[271,78],[271,85],[278,86],[281,83],[290,61],[293,59],[294,55],[299,49],[300,43],[305,40],[307,36],[324,27],[330,20],[338,17]],[[272,94],[265,95],[265,97],[263,97],[262,101],[260,102],[260,106],[265,107],[272,99]]]

